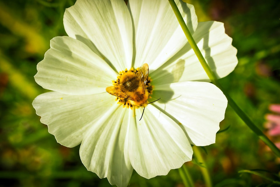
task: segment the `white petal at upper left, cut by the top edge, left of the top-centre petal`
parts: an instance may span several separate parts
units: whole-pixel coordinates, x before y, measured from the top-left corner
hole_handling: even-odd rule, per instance
[[[66,9],[63,23],[70,37],[105,56],[117,71],[131,67],[132,22],[123,0],[78,0]]]

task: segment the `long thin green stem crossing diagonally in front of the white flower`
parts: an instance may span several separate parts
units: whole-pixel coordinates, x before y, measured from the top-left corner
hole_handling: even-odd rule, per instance
[[[192,47],[193,51],[195,52],[199,62],[201,63],[203,69],[205,70],[206,74],[208,75],[209,79],[212,81],[213,84],[215,84],[221,91],[223,91],[224,95],[227,98],[228,104],[232,107],[232,109],[237,113],[237,115],[245,122],[245,124],[255,133],[257,136],[277,155],[280,157],[280,150],[275,146],[275,144],[263,134],[263,132],[250,120],[250,118],[239,108],[239,106],[233,101],[233,99],[230,97],[230,95],[223,89],[223,87],[220,85],[220,83],[217,80],[216,75],[212,72],[209,65],[206,63],[206,60],[202,56],[200,50],[198,49],[195,40],[193,39],[192,35],[190,34],[190,31],[188,30],[187,25],[185,24],[185,21],[183,20],[183,17],[174,2],[174,0],[168,0],[175,15],[178,19],[179,24],[181,25],[185,36],[188,39],[188,42],[190,43],[190,46]]]

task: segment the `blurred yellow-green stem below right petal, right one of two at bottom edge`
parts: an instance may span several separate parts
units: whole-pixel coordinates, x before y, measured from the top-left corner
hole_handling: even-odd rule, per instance
[[[199,148],[197,146],[192,146],[192,150],[193,150],[193,154],[197,158],[197,161],[204,165],[204,167],[200,166],[200,170],[202,172],[202,176],[203,176],[204,181],[205,181],[205,186],[206,187],[212,187],[211,177],[210,177],[210,174],[209,174],[209,171],[207,169],[206,163],[205,163],[205,161],[204,161],[204,159],[201,155],[201,152],[200,152]]]

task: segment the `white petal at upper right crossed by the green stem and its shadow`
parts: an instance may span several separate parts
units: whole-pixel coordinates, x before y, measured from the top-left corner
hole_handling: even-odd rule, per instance
[[[225,34],[224,24],[216,21],[199,22],[193,38],[211,70],[218,78],[227,76],[237,65],[237,49],[232,38]],[[174,57],[150,73],[153,84],[182,81],[210,82],[197,56],[186,44]]]

